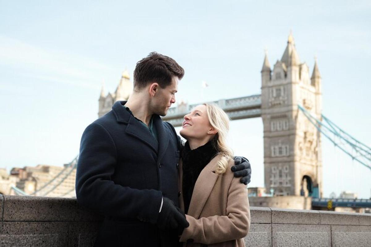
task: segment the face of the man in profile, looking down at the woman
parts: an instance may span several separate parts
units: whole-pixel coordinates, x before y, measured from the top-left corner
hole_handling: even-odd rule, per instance
[[[175,103],[175,93],[178,91],[178,77],[174,76],[171,84],[164,89],[158,87],[152,104],[153,112],[160,116],[165,116],[171,104]]]

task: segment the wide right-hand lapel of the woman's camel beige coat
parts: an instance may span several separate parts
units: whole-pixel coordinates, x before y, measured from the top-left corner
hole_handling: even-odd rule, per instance
[[[209,164],[203,168],[194,185],[188,214],[196,219],[200,217],[207,198],[209,198],[211,190],[213,190],[214,184],[219,177],[219,174],[214,173],[219,157],[220,155],[215,156]]]

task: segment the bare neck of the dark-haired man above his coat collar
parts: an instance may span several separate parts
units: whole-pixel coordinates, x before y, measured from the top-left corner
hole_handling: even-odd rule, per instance
[[[149,126],[153,113],[150,112],[150,110],[148,109],[148,102],[145,99],[146,98],[142,96],[141,93],[134,92],[129,97],[125,106],[129,107],[134,117],[136,117],[143,123],[147,124],[147,126]]]

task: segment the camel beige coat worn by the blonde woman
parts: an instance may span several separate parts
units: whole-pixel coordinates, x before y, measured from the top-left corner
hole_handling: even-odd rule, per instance
[[[190,226],[180,237],[183,246],[196,247],[244,247],[243,237],[250,228],[250,209],[246,185],[233,176],[228,164],[227,171],[217,174],[216,163],[220,155],[214,157],[201,171],[194,186],[188,214],[185,216]],[[182,193],[180,207],[184,210],[182,177],[183,161],[179,163],[178,188]]]

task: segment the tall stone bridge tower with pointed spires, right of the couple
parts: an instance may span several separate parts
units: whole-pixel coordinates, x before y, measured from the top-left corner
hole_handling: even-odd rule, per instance
[[[319,131],[298,109],[305,107],[321,119],[321,75],[317,61],[301,63],[292,34],[281,60],[270,68],[265,55],[262,74],[264,171],[267,191],[276,196],[322,196]]]

